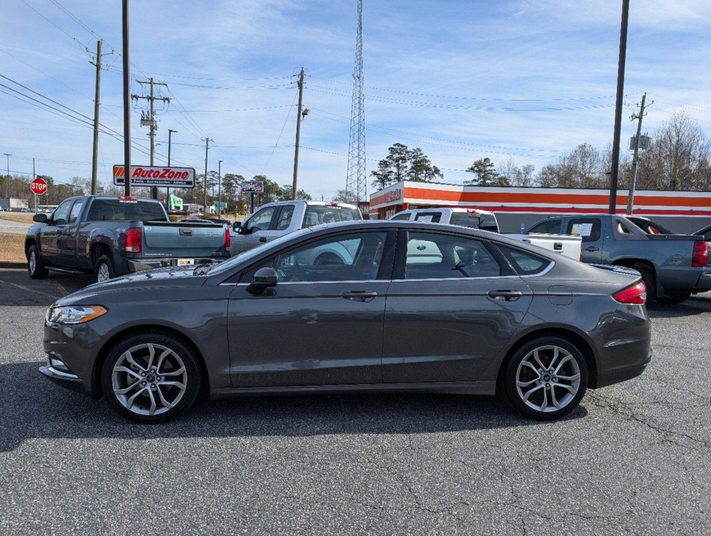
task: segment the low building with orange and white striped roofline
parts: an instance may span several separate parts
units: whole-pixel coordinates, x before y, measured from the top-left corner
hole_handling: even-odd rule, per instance
[[[513,188],[402,181],[370,194],[370,219],[407,209],[461,207],[496,213],[502,232],[517,232],[550,214],[607,214],[609,191],[585,188]],[[625,214],[627,190],[616,211]],[[679,233],[711,224],[711,191],[638,190],[634,214],[657,219]]]

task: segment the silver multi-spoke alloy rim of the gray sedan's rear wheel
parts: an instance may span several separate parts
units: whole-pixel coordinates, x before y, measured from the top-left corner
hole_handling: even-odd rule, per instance
[[[580,367],[560,346],[540,346],[516,370],[516,391],[526,406],[542,413],[565,408],[580,389]]]

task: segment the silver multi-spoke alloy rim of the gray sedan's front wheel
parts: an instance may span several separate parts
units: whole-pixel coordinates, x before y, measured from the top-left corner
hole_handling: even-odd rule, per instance
[[[137,415],[160,415],[171,410],[183,398],[187,384],[183,359],[164,345],[131,347],[112,370],[114,395]]]

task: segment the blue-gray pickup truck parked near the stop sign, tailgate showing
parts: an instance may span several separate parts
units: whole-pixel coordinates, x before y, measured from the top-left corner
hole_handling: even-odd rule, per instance
[[[230,233],[222,224],[171,223],[154,199],[77,196],[49,217],[35,214],[25,238],[31,278],[48,270],[93,273],[97,281],[130,272],[223,260]]]

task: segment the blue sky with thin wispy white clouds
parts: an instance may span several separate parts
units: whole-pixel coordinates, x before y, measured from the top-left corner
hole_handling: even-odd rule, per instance
[[[158,106],[156,164],[171,158],[202,172],[223,160],[224,173],[292,181],[296,75],[304,67],[299,188],[331,199],[346,184],[356,2],[340,0],[143,0],[131,3],[131,92],[153,76],[171,102]],[[614,126],[621,1],[363,2],[365,151],[368,174],[387,147],[421,147],[462,184],[474,160],[513,157],[536,169],[577,144],[603,148]],[[711,0],[632,1],[622,122],[643,92],[654,103],[643,130],[683,110],[711,135]],[[121,2],[0,2],[0,83],[59,110],[94,113],[95,68],[103,38],[100,122],[123,132]],[[112,50],[114,51],[111,54]],[[51,98],[43,100],[30,90]],[[0,86],[0,152],[11,172],[66,182],[90,177],[92,130],[40,110]],[[7,95],[10,93],[11,95]],[[23,98],[23,100],[28,100]],[[133,103],[132,139],[147,152],[140,127],[145,100]],[[210,142],[213,144],[213,142]],[[132,151],[133,164],[149,157]],[[100,135],[100,183],[122,163],[123,144]],[[5,169],[6,159],[0,159]],[[368,193],[373,189],[368,176]]]

